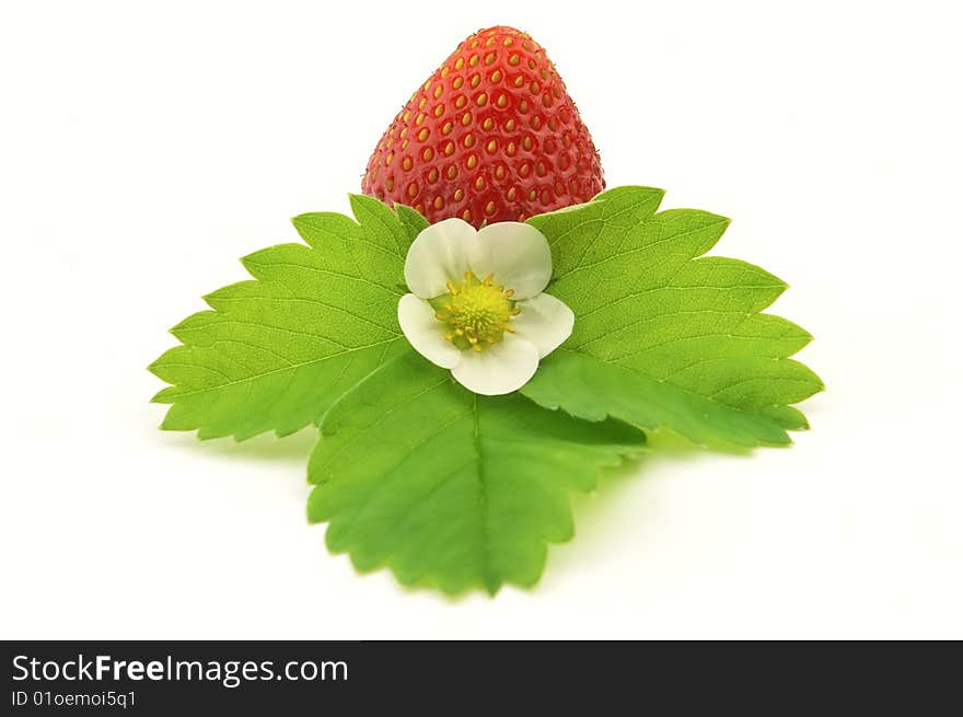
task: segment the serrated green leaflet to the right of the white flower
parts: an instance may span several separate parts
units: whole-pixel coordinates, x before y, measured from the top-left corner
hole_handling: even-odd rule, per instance
[[[552,246],[549,293],[576,324],[522,392],[575,416],[664,427],[699,443],[789,442],[786,429],[805,427],[789,404],[823,383],[789,358],[812,337],[759,313],[786,284],[745,262],[703,256],[729,220],[655,213],[662,195],[619,187],[529,220]]]

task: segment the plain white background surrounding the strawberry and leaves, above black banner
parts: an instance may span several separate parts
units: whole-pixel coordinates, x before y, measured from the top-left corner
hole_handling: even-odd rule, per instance
[[[484,11],[480,10],[484,8]],[[4,638],[963,638],[956,3],[4,2]],[[359,577],[304,518],[305,430],[156,430],[144,367],[288,218],[347,210],[410,92],[531,32],[610,186],[734,219],[792,288],[813,429],[654,452],[576,500],[541,585]]]

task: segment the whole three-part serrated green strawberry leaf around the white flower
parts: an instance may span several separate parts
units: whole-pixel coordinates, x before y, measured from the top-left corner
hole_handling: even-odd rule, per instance
[[[240,440],[318,425],[309,518],[329,522],[332,551],[449,593],[534,585],[547,545],[572,535],[569,495],[638,454],[642,430],[786,443],[808,427],[791,404],[823,388],[790,358],[810,335],[762,313],[786,285],[703,256],[728,220],[657,213],[661,198],[622,187],[530,220],[575,329],[521,393],[495,397],[455,383],[398,327],[424,217],[360,196],[353,219],[297,217],[305,244],[245,257],[252,280],[172,329],[182,345],[150,367],[172,384],[154,397],[171,405],[163,428]]]

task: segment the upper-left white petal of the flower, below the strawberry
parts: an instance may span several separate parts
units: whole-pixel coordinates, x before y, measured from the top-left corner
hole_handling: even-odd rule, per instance
[[[466,221],[445,219],[426,227],[411,242],[405,257],[405,282],[422,299],[446,291],[448,281],[461,281],[468,269],[471,247],[477,232]]]

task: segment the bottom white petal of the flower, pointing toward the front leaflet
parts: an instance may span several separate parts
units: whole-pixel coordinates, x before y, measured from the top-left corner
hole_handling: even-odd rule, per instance
[[[506,336],[484,351],[464,351],[452,375],[468,391],[499,396],[521,389],[537,368],[538,349],[521,338]]]

